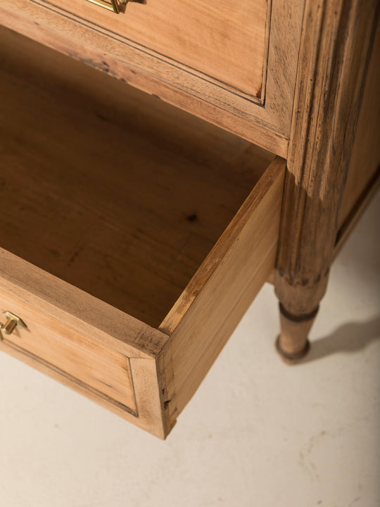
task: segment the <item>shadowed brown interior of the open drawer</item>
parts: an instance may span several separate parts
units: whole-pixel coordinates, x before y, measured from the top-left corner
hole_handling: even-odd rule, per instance
[[[1,247],[158,327],[274,156],[0,39]]]

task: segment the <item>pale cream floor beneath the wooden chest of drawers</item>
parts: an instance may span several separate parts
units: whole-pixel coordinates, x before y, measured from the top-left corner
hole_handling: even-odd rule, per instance
[[[265,285],[166,442],[0,355],[1,507],[380,506],[380,196],[336,260],[308,361]]]

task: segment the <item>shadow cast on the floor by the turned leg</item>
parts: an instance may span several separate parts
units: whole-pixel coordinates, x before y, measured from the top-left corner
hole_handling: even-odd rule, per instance
[[[310,352],[298,364],[317,361],[338,352],[357,352],[380,339],[380,315],[365,323],[348,323],[312,342]]]

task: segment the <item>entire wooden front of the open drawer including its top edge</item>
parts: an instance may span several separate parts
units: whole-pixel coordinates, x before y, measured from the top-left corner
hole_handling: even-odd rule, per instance
[[[1,350],[164,437],[156,356],[167,335],[3,249],[0,287],[1,310],[28,326]]]

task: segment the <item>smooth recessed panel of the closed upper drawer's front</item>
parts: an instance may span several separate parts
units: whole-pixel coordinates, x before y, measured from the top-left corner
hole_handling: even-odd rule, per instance
[[[253,99],[265,89],[267,0],[44,0]],[[103,6],[102,6],[103,4]],[[113,5],[120,13],[113,12]],[[106,6],[107,8],[103,8]],[[124,12],[122,12],[124,11]]]

